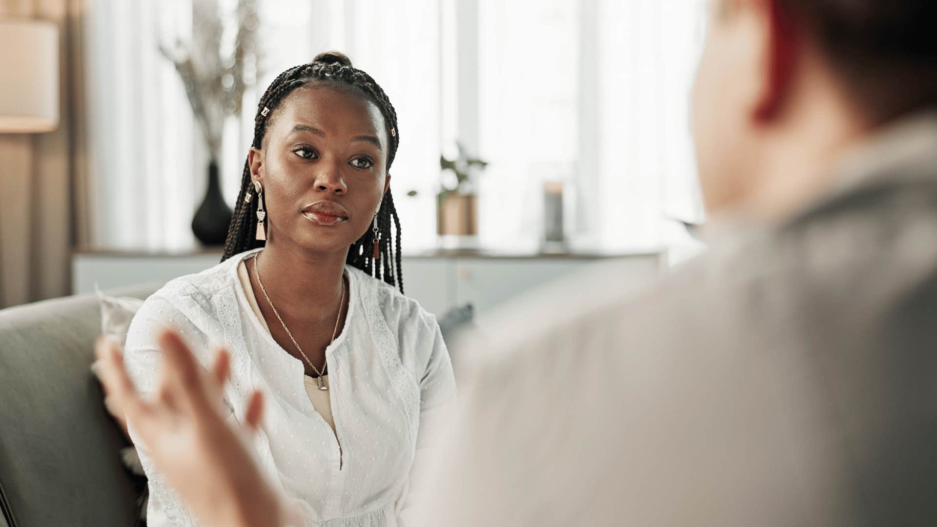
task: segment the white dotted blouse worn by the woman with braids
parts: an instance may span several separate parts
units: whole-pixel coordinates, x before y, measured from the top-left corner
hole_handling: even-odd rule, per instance
[[[393,527],[431,411],[455,394],[439,324],[394,287],[346,267],[349,310],[341,335],[325,351],[333,432],[306,395],[302,362],[264,330],[241,287],[238,264],[259,250],[174,279],[150,296],[130,324],[126,368],[141,392],[154,390],[156,339],[167,326],[180,331],[203,365],[225,346],[231,354],[229,418],[243,419],[252,390],[265,392],[255,442],[260,466],[297,500],[308,525]],[[132,423],[130,435],[136,443]],[[148,524],[196,525],[155,471],[145,445],[138,447],[149,478]]]

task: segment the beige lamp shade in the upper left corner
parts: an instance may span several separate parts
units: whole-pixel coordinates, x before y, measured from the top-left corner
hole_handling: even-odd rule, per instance
[[[0,132],[58,127],[58,55],[54,24],[0,21]]]

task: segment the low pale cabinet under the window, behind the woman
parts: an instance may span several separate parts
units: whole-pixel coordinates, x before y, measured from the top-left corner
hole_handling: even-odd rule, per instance
[[[529,289],[615,257],[635,279],[654,279],[662,268],[656,252],[616,255],[505,255],[430,252],[403,258],[404,290],[439,316],[471,304],[483,312]],[[197,273],[220,261],[220,252],[190,254],[77,251],[72,256],[72,290],[91,293],[126,285],[166,282]]]

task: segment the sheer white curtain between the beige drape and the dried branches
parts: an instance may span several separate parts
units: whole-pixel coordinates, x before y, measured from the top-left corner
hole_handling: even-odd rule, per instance
[[[161,32],[185,31],[190,8],[156,0],[88,6],[86,76],[92,150],[89,243],[184,249],[205,186],[186,93],[158,52]]]

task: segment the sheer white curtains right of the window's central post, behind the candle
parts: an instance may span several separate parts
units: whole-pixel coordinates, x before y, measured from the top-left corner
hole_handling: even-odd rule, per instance
[[[479,1],[484,245],[536,243],[548,179],[572,184],[586,248],[668,245],[673,218],[702,218],[688,101],[704,0]]]

